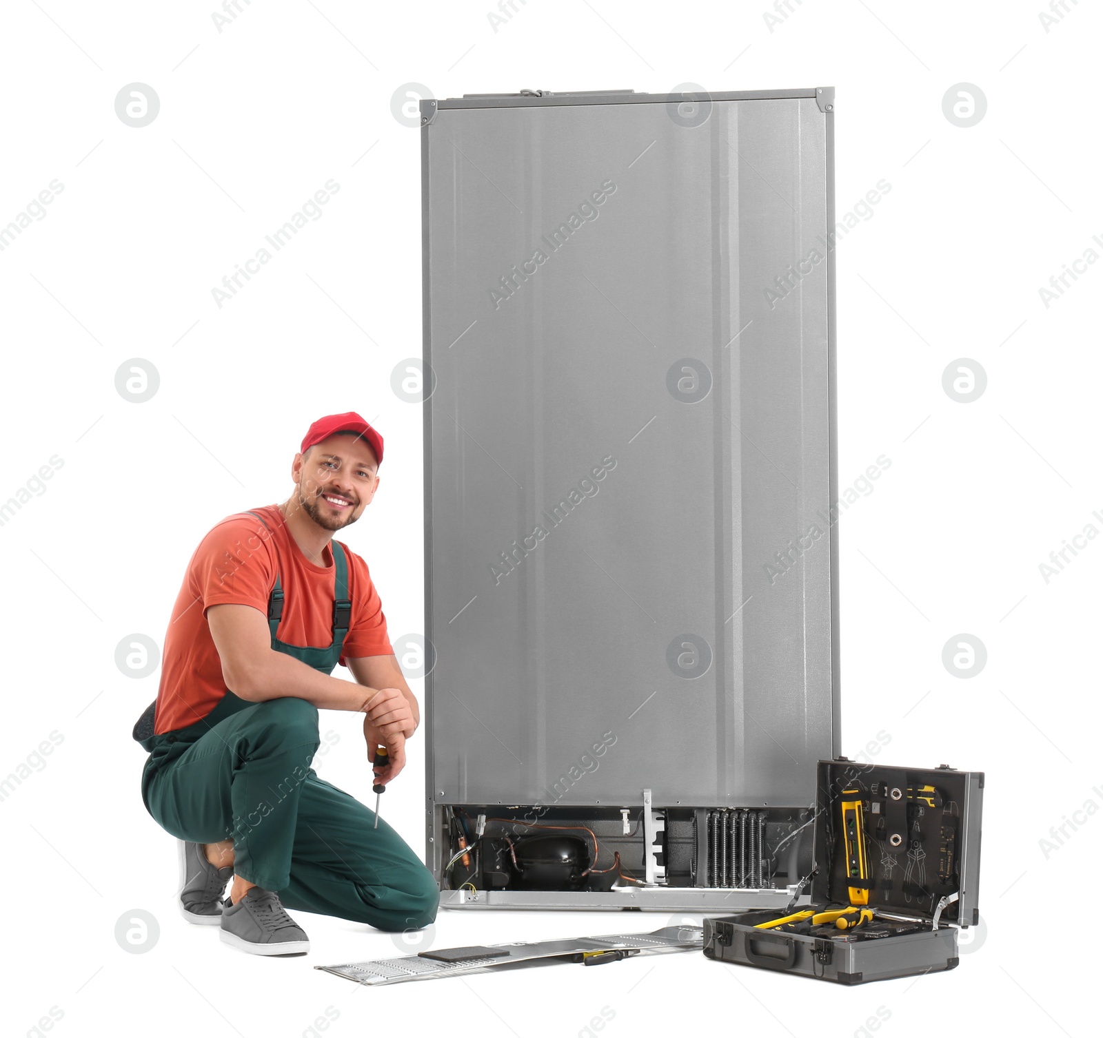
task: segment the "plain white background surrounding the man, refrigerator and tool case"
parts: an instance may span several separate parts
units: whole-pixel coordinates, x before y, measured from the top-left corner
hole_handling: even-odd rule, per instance
[[[870,1018],[900,1038],[1095,1032],[1099,940],[1075,920],[1095,901],[1103,836],[1103,544],[1081,541],[1048,582],[1039,564],[1103,530],[1103,270],[1049,306],[1039,289],[1086,249],[1103,255],[1101,15],[1068,0],[1047,31],[1041,0],[790,7],[768,24],[764,0],[516,0],[495,31],[489,0],[243,0],[219,32],[213,3],[3,4],[0,225],[64,185],[0,252],[0,500],[63,462],[0,527],[0,775],[61,736],[0,801],[4,1034],[46,1034],[33,1028],[53,1008],[58,1036],[574,1036],[599,1034],[586,1028],[603,1007],[611,1036],[848,1036],[872,1034]],[[136,82],[161,104],[141,129],[115,111]],[[836,252],[840,487],[892,462],[840,527],[843,748],[882,732],[880,760],[987,774],[984,927],[957,970],[842,988],[687,953],[361,990],[311,966],[393,954],[390,936],[299,913],[310,956],[265,960],[176,915],[174,842],[141,804],[130,740],[159,672],[125,675],[116,646],[161,642],[203,533],[288,496],[321,414],[357,410],[386,439],[379,493],[347,541],[393,638],[422,628],[421,413],[390,390],[421,350],[418,132],[392,115],[410,82],[437,97],[836,87],[838,213],[891,185]],[[961,83],[987,99],[970,128],[943,113]],[[330,179],[322,218],[219,309],[212,288]],[[116,390],[130,358],[160,376],[144,403]],[[972,403],[943,389],[957,358],[987,375]],[[987,650],[970,679],[942,662],[963,632]],[[321,774],[370,798],[355,718],[325,713],[322,729],[340,742]],[[420,848],[420,736],[409,756],[385,811]],[[1054,840],[1067,819],[1082,824]],[[160,927],[140,954],[115,938],[133,909]],[[432,940],[665,922],[442,912]]]

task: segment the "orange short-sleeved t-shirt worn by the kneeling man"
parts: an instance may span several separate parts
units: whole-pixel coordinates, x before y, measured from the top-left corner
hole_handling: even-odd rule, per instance
[[[195,724],[226,694],[222,661],[206,610],[213,605],[250,605],[268,616],[268,595],[279,573],[283,615],[276,635],[296,646],[328,646],[333,641],[333,550],[325,545],[325,566],[307,560],[287,529],[278,505],[227,516],[195,549],[172,609],[164,637],[161,684],[157,693],[153,731],[158,735]],[[269,529],[270,528],[270,529]],[[339,662],[346,657],[390,656],[387,618],[372,584],[367,564],[344,548],[349,569],[352,616]]]

